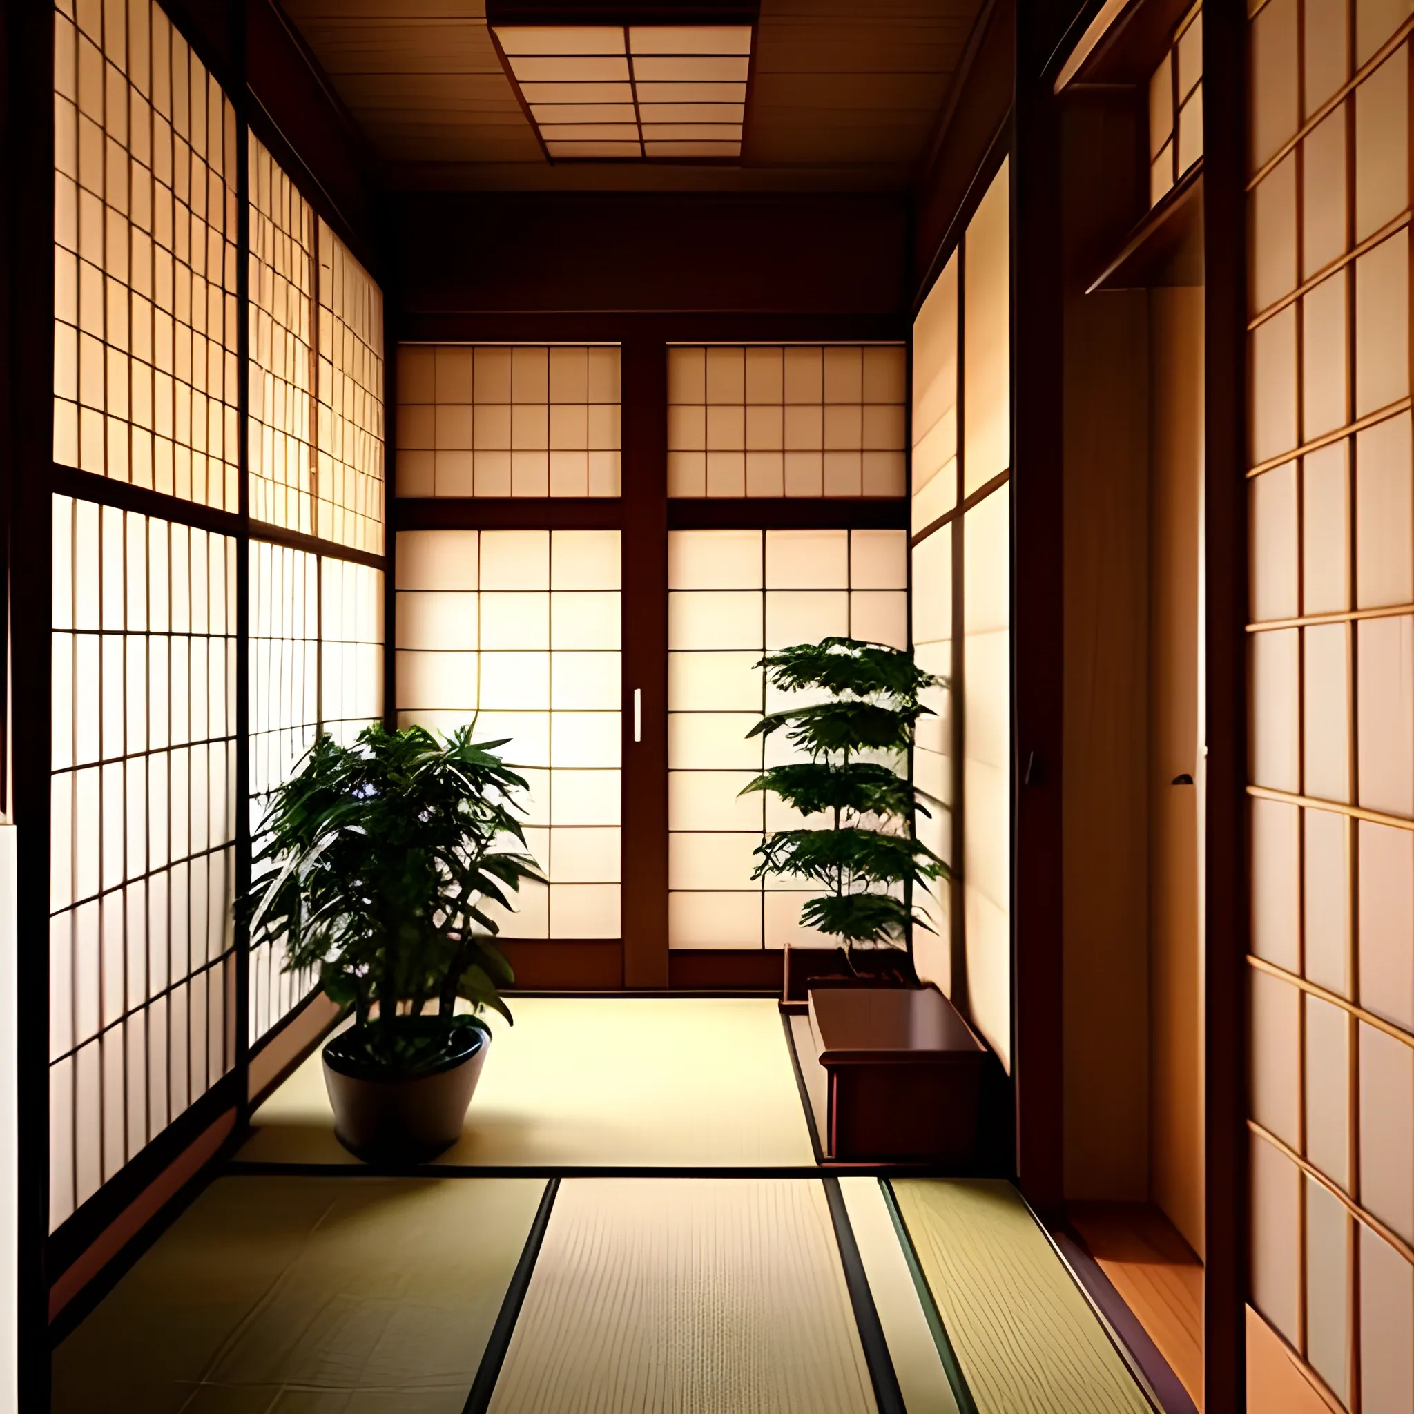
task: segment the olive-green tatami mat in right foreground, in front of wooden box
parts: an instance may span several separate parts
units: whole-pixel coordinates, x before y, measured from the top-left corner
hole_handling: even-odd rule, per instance
[[[1152,1414],[1010,1184],[892,1188],[978,1414]]]

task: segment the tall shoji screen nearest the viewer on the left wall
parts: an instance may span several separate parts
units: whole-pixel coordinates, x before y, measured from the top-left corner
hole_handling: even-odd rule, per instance
[[[57,1227],[235,1060],[242,744],[235,112],[146,0],[54,24],[54,460],[173,498],[52,501]]]

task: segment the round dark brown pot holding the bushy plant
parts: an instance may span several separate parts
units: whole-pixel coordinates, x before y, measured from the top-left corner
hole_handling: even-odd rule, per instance
[[[464,1034],[458,1053],[413,1076],[373,1072],[341,1053],[346,1032],[335,1036],[324,1048],[324,1086],[338,1141],[370,1164],[421,1164],[455,1144],[491,1045],[484,1031]]]

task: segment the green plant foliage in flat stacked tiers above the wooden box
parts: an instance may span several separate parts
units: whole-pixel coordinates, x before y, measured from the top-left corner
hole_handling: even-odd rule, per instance
[[[823,691],[829,700],[768,713],[752,727],[748,737],[785,732],[810,759],[764,771],[742,795],[771,792],[829,823],[766,836],[752,878],[823,885],[827,892],[800,911],[803,923],[839,937],[851,964],[857,946],[902,947],[912,971],[911,929],[928,928],[912,891],[950,875],[916,836],[916,813],[930,813],[923,793],[887,761],[908,761],[918,720],[932,714],[921,694],[940,679],[899,649],[851,638],[800,643],[756,666],[782,691]]]

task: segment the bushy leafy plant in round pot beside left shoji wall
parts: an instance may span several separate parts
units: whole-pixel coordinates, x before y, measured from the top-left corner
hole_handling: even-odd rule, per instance
[[[471,728],[366,727],[321,737],[270,793],[253,881],[250,940],[280,940],[286,969],[314,967],[352,1008],[324,1046],[335,1134],[361,1158],[431,1158],[460,1134],[485,1062],[488,1010],[509,1022],[513,981],[485,904],[542,880],[526,853],[526,782]],[[472,1004],[457,1012],[458,998]]]

